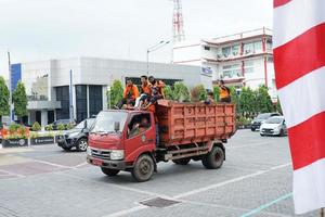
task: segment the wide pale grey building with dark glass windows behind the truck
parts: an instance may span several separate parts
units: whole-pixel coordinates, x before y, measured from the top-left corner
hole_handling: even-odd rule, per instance
[[[197,66],[150,63],[150,75],[168,85],[183,81],[194,87],[200,84],[199,72]],[[75,58],[13,64],[11,80],[12,89],[18,80],[25,84],[29,113],[25,123],[38,122],[44,126],[56,119],[69,118],[70,80],[74,117],[80,122],[106,108],[106,91],[115,79],[125,84],[130,78],[140,85],[142,75],[146,75],[145,62]],[[205,85],[212,88],[211,80]]]

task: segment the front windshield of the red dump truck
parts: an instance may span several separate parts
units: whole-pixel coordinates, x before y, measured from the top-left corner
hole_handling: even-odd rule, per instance
[[[114,132],[115,123],[119,123],[120,128],[126,124],[128,113],[126,112],[101,112],[94,123],[91,132]]]

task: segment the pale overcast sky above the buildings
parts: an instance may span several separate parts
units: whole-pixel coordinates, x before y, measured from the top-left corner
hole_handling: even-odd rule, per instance
[[[182,0],[186,40],[272,28],[273,0]],[[172,38],[171,0],[0,0],[0,75],[12,63],[75,56],[146,60]],[[151,53],[171,61],[172,43]]]

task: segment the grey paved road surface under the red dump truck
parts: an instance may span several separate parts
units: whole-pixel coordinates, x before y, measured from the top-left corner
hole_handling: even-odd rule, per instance
[[[287,137],[239,130],[225,145],[218,170],[159,163],[143,183],[105,177],[55,144],[2,149],[0,217],[294,216]]]

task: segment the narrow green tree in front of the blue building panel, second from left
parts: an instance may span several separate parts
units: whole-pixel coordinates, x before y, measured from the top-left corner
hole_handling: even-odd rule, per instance
[[[22,120],[22,117],[28,114],[27,111],[27,94],[25,85],[22,81],[18,81],[16,89],[12,94],[12,100],[14,103],[15,115]]]

